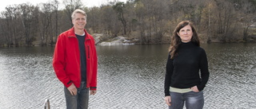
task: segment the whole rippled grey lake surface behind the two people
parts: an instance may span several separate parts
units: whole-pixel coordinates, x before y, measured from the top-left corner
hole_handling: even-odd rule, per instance
[[[98,92],[90,109],[166,109],[163,82],[169,45],[97,46]],[[205,108],[256,108],[256,44],[210,44]],[[0,109],[65,108],[52,69],[54,48],[0,48]]]

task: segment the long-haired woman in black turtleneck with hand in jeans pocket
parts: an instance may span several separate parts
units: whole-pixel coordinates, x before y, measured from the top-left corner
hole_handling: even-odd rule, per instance
[[[165,100],[169,109],[202,109],[209,79],[206,52],[190,21],[180,22],[170,42],[166,64]],[[199,73],[200,71],[200,73]]]

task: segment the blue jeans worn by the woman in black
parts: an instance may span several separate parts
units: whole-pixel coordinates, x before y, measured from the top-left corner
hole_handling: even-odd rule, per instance
[[[203,92],[189,91],[186,93],[177,93],[170,91],[171,106],[169,109],[183,109],[186,103],[186,109],[202,109],[204,104]]]

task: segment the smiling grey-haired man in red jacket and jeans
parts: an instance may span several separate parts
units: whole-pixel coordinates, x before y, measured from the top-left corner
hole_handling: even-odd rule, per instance
[[[54,49],[54,72],[64,84],[67,109],[88,108],[97,88],[97,53],[94,38],[86,32],[86,12],[74,10],[73,28],[61,33]]]

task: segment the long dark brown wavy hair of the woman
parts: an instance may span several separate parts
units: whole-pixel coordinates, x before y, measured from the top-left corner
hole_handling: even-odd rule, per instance
[[[191,37],[191,42],[193,42],[195,45],[200,46],[198,32],[194,28],[193,23],[190,21],[181,21],[180,23],[178,23],[178,25],[174,29],[173,36],[171,37],[170,48],[169,48],[171,59],[174,59],[174,56],[178,55],[178,47],[182,43],[182,39],[181,37],[178,36],[178,32],[180,31],[180,29],[182,29],[186,25],[190,25],[193,32],[193,35]]]

